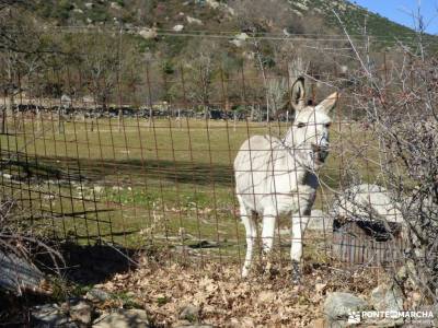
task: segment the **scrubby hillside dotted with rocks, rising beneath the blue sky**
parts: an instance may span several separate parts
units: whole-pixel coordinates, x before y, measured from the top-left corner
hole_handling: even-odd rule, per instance
[[[93,93],[102,104],[142,104],[143,94],[137,85],[145,90],[150,82],[146,77],[152,81],[148,85],[152,101],[189,99],[200,107],[218,103],[223,96],[221,80],[228,79],[233,83],[227,90],[228,97],[239,103],[243,96],[239,84],[242,70],[253,79],[244,91],[246,96],[265,94],[280,103],[287,89],[286,74],[292,77],[306,70],[321,79],[354,70],[355,56],[334,11],[357,38],[358,49],[364,48],[360,45],[366,25],[367,34],[372,36],[367,49],[376,67],[387,55],[396,55],[390,48],[397,39],[408,42],[414,36],[412,30],[343,0],[10,3],[25,10],[18,8],[0,15],[0,27],[5,31],[3,48],[22,54],[22,62],[32,58],[47,69],[46,85],[38,86],[38,93],[60,96],[62,92],[77,92],[64,91],[69,83],[59,82],[74,79],[78,90]],[[8,65],[10,70],[20,68],[21,77],[28,73],[27,66]],[[276,82],[266,77],[281,79]],[[183,78],[184,89],[180,85]],[[84,84],[83,80],[91,82]],[[118,84],[123,84],[120,89],[115,87]],[[272,95],[266,95],[268,92]]]

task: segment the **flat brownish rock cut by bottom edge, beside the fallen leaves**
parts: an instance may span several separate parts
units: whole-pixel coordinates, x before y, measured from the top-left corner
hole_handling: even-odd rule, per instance
[[[148,314],[143,309],[118,309],[103,314],[93,323],[93,328],[147,328],[150,326]]]

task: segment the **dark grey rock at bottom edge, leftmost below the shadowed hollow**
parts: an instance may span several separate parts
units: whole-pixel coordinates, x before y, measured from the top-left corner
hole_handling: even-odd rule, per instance
[[[57,304],[35,306],[31,316],[34,321],[32,327],[66,327],[68,324],[73,325],[68,327],[77,327]]]

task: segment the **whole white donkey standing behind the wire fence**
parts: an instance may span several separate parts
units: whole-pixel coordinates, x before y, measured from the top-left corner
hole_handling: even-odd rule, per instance
[[[302,235],[318,188],[315,173],[328,154],[328,117],[337,101],[333,93],[318,106],[306,105],[304,79],[292,85],[296,110],[284,139],[254,136],[246,140],[234,160],[235,189],[240,215],[246,230],[246,256],[242,277],[251,267],[257,234],[253,214],[263,216],[262,243],[267,254],[274,244],[276,218],[291,214],[292,279],[300,279]]]

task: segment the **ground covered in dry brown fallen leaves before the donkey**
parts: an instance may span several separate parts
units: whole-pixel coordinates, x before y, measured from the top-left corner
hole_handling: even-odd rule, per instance
[[[101,289],[124,294],[130,304],[146,309],[157,326],[176,327],[203,323],[215,327],[324,327],[322,305],[331,291],[364,295],[378,284],[379,274],[368,270],[345,270],[307,265],[302,284],[295,285],[286,268],[270,268],[240,278],[235,263],[207,262],[201,266],[157,263],[140,259],[139,267],[116,274]],[[120,303],[122,304],[122,303]],[[103,304],[117,306],[114,301]],[[193,306],[198,315],[189,320],[181,312]]]

